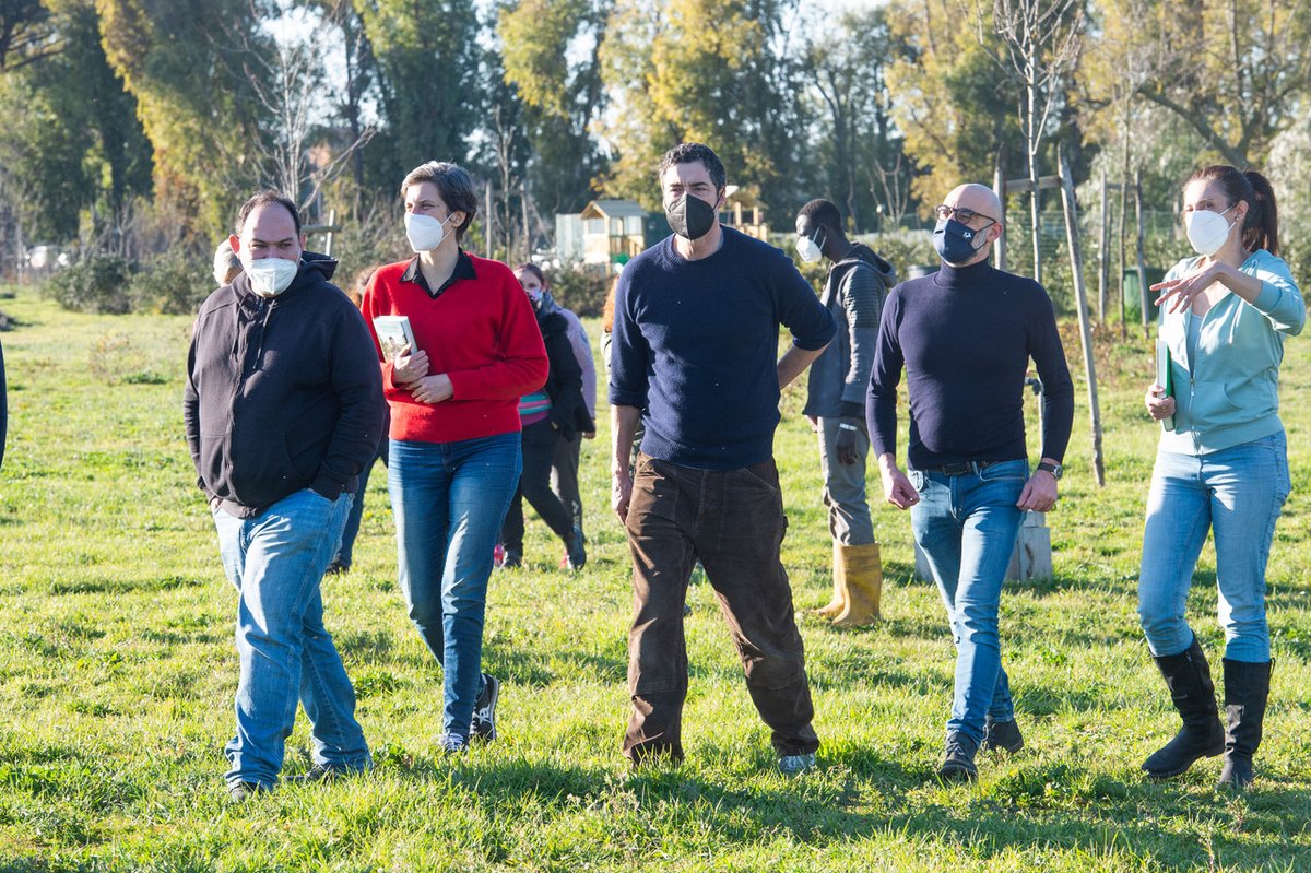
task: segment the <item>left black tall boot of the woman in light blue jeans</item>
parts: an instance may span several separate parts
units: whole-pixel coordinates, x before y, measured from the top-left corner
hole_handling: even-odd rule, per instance
[[[1169,779],[1186,771],[1198,758],[1214,758],[1224,751],[1224,728],[1215,708],[1211,669],[1196,636],[1184,651],[1155,661],[1184,726],[1143,762],[1143,769],[1152,779]]]

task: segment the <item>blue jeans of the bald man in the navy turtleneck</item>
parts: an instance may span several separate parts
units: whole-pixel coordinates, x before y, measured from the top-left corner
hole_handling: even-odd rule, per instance
[[[911,507],[911,528],[933,572],[956,642],[956,693],[947,733],[962,733],[974,742],[983,739],[985,716],[1015,718],[996,616],[1024,518],[1015,503],[1028,475],[1027,460],[961,476],[910,471],[920,498]]]

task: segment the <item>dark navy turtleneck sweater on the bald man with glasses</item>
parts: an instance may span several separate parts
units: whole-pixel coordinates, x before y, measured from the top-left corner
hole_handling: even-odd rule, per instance
[[[1028,457],[1024,376],[1044,385],[1042,456],[1062,460],[1074,422],[1074,383],[1051,300],[1033,279],[987,261],[902,282],[884,307],[869,379],[876,456],[897,452],[897,385],[910,392],[911,469]]]

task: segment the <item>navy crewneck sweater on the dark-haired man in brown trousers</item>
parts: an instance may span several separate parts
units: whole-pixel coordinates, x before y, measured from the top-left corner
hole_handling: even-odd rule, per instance
[[[642,451],[699,469],[773,456],[779,325],[800,349],[836,328],[781,250],[732,228],[688,261],[666,237],[628,262],[615,291],[610,402],[642,409]]]

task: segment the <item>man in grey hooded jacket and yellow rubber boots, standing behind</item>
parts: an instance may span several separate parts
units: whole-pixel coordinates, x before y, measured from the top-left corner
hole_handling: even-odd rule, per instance
[[[832,602],[819,610],[838,627],[878,619],[882,564],[865,499],[865,392],[874,363],[878,316],[897,271],[869,246],[851,242],[831,201],[815,199],[797,214],[797,254],[832,266],[822,303],[838,325],[835,340],[810,367],[802,410],[819,435],[823,503],[832,536]]]

